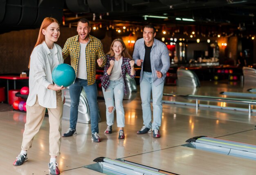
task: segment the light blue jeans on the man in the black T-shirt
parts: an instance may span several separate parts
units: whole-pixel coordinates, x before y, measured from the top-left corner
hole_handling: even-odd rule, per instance
[[[153,123],[151,122],[151,105],[150,97],[152,91],[153,99]],[[143,124],[147,128],[158,129],[162,122],[162,98],[164,91],[164,82],[155,86],[151,72],[143,72],[140,83],[140,96],[142,101]]]

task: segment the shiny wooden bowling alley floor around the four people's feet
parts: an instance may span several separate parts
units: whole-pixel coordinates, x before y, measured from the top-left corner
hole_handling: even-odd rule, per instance
[[[239,82],[205,81],[200,88],[165,86],[164,93],[222,96],[220,92],[247,92],[253,85],[243,86]],[[139,86],[138,86],[139,89]],[[248,92],[249,93],[249,92]],[[99,92],[99,96],[101,92]],[[222,96],[223,97],[223,96]],[[252,175],[256,162],[251,159],[222,155],[182,146],[195,136],[209,136],[230,141],[256,145],[256,113],[248,111],[199,108],[186,105],[163,104],[161,138],[152,134],[137,135],[143,126],[139,91],[132,100],[124,100],[125,139],[117,138],[116,123],[112,134],[106,129],[106,106],[99,100],[101,122],[99,135],[101,143],[91,141],[90,124],[78,123],[77,135],[63,138],[61,155],[57,157],[62,175],[98,175],[83,166],[94,164],[97,157],[122,158],[176,175]],[[193,102],[184,98],[164,96],[164,100]],[[248,98],[247,99],[252,99]],[[246,105],[220,102],[202,102],[211,105],[225,105],[247,108]],[[253,106],[253,109],[256,109]],[[0,174],[4,175],[47,175],[49,161],[49,121],[45,117],[40,131],[28,151],[28,161],[22,166],[12,163],[20,153],[22,133],[26,121],[25,112],[12,110],[10,105],[0,103]],[[62,133],[69,127],[69,121],[62,121]],[[125,173],[125,172],[123,172]]]

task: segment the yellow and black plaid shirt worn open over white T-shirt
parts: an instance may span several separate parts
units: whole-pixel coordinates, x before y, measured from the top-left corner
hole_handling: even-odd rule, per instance
[[[70,55],[71,58],[71,66],[74,68],[76,74],[78,70],[78,63],[80,58],[80,43],[78,41],[79,35],[68,38],[63,49],[62,55],[63,59],[67,58]],[[92,85],[95,83],[96,78],[96,62],[97,59],[103,59],[103,67],[106,64],[106,56],[103,52],[103,47],[101,40],[98,38],[89,35],[90,39],[85,48],[85,57],[86,57],[86,71],[87,71],[87,83],[88,85]]]

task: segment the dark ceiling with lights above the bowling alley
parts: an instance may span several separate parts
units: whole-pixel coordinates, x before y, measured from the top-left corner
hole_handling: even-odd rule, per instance
[[[37,28],[52,16],[67,27],[88,18],[92,26],[114,29],[139,30],[153,23],[171,34],[195,30],[203,36],[251,36],[256,34],[255,15],[256,0],[0,0],[0,33]]]

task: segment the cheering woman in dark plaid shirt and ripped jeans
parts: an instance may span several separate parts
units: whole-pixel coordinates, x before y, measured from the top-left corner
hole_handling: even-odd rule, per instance
[[[114,111],[117,110],[118,139],[124,139],[124,106],[123,98],[126,95],[126,73],[135,77],[134,61],[126,49],[124,41],[115,39],[110,51],[106,54],[107,63],[102,78],[102,90],[106,103],[107,129],[105,133],[112,133]],[[114,100],[115,98],[115,100]],[[114,103],[115,102],[115,103]]]

